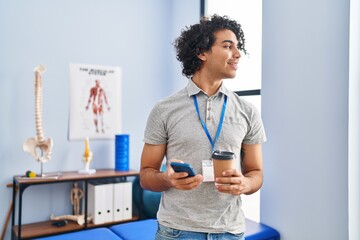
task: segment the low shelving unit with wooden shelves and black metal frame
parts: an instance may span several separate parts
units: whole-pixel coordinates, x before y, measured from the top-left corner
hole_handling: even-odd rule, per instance
[[[42,237],[46,235],[54,235],[61,234],[65,232],[73,232],[79,231],[88,228],[95,227],[103,227],[110,226],[112,224],[118,224],[122,222],[136,221],[140,217],[132,216],[131,218],[127,218],[126,220],[112,221],[106,222],[103,224],[93,224],[85,221],[84,225],[78,225],[75,222],[68,221],[68,224],[63,227],[55,227],[51,225],[51,221],[30,223],[30,224],[22,224],[22,202],[25,201],[23,199],[23,193],[25,189],[33,185],[39,184],[56,184],[63,182],[83,182],[84,186],[84,212],[85,219],[88,216],[88,183],[94,180],[111,180],[115,178],[121,178],[123,181],[126,181],[128,177],[136,177],[139,175],[137,171],[115,171],[113,169],[98,169],[96,173],[87,175],[87,174],[79,174],[78,172],[59,172],[58,178],[23,178],[21,176],[14,176],[13,178],[13,211],[12,211],[12,239],[31,239],[36,237]],[[18,189],[19,199],[16,204],[16,190]],[[17,214],[17,225],[15,225],[15,217]]]

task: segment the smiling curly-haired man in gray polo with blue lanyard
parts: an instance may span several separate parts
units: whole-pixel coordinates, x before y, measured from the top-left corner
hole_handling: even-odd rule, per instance
[[[175,41],[189,82],[153,108],[141,157],[142,187],[162,192],[158,240],[244,239],[241,195],[262,185],[265,141],[255,107],[223,85],[235,77],[244,44],[240,24],[217,15],[186,28]],[[217,184],[204,176],[214,150],[236,154],[237,168],[224,171]],[[176,173],[171,161],[190,163],[198,174]]]

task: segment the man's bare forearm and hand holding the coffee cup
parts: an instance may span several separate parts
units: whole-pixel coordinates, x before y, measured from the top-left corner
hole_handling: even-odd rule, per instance
[[[241,155],[241,171],[226,170],[224,177],[217,179],[218,183],[228,184],[217,185],[220,192],[249,195],[260,189],[263,182],[262,145],[243,144]]]

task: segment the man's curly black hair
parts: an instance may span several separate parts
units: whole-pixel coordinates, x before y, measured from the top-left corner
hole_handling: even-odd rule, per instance
[[[209,51],[215,42],[215,33],[220,30],[231,30],[237,40],[240,51],[247,54],[245,49],[245,36],[241,25],[228,16],[212,15],[203,17],[200,23],[191,25],[182,30],[175,40],[176,59],[182,64],[182,74],[188,78],[194,75],[201,67],[199,54]]]

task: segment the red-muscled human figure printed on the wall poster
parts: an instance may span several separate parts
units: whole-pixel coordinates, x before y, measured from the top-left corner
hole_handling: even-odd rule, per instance
[[[92,108],[94,113],[94,124],[96,128],[96,132],[99,132],[99,122],[101,124],[101,132],[104,133],[104,102],[108,106],[108,110],[110,111],[110,107],[107,101],[107,97],[104,89],[100,86],[100,81],[95,80],[95,86],[90,89],[90,96],[88,103],[86,105],[86,110],[89,109],[89,105],[92,102]]]

